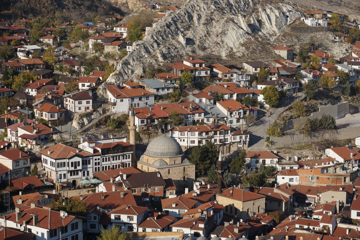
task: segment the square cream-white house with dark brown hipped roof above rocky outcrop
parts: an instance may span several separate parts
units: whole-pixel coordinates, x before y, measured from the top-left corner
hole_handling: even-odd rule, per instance
[[[93,97],[91,92],[81,91],[64,96],[64,107],[71,112],[71,114],[90,112],[93,108]]]

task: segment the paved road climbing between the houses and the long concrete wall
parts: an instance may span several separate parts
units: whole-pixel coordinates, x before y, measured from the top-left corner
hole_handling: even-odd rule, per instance
[[[291,104],[294,99],[302,98],[303,94],[298,93],[295,96],[289,97],[289,104]],[[252,147],[264,147],[265,139],[267,137],[266,128],[269,127],[269,124],[273,124],[275,119],[278,116],[279,112],[282,112],[288,106],[288,99],[283,99],[279,104],[279,108],[275,108],[271,110],[271,115],[268,116],[268,113],[265,114],[265,117],[258,120],[257,124],[248,128],[248,130],[252,133],[249,141],[249,146]]]

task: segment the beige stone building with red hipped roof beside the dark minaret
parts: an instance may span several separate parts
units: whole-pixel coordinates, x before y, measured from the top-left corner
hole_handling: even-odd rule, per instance
[[[265,211],[265,196],[243,189],[229,187],[216,195],[219,204],[225,206],[225,214],[247,219]]]

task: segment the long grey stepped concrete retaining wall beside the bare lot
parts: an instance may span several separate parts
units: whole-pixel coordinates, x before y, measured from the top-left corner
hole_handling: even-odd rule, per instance
[[[309,116],[309,117],[291,119],[291,120],[286,122],[286,126],[280,127],[279,129],[282,132],[291,130],[296,124],[304,123],[306,121],[306,119],[313,119],[313,118],[316,118],[316,117],[321,118],[321,115],[323,115],[324,113],[326,115],[330,114],[335,119],[343,118],[343,117],[345,117],[346,114],[350,113],[349,112],[349,108],[350,108],[349,105],[350,104],[348,102],[345,102],[345,103],[341,103],[341,104],[337,104],[337,105],[320,107],[319,112],[311,113],[311,116]],[[352,112],[355,113],[356,108],[357,108],[357,111],[359,111],[358,107],[356,107],[355,105],[352,105],[352,107],[351,107]]]

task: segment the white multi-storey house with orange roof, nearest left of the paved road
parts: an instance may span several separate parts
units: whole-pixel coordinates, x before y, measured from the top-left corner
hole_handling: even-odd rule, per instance
[[[246,107],[234,99],[217,101],[216,106],[219,107],[222,113],[226,114],[226,124],[228,126],[236,127],[246,124],[244,118],[247,114],[257,117],[258,108]]]

